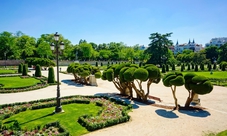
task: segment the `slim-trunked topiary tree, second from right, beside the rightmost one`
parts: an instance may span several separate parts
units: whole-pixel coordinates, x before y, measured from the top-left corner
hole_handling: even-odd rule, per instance
[[[164,86],[170,87],[172,90],[173,98],[175,101],[175,109],[178,109],[177,97],[176,97],[176,87],[182,86],[185,83],[183,74],[180,72],[168,73],[162,79]]]

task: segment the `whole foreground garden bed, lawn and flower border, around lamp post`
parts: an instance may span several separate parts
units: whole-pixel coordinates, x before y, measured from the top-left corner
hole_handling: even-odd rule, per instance
[[[132,109],[123,101],[101,96],[68,96],[61,103],[64,113],[58,114],[53,114],[55,98],[0,105],[0,135],[19,131],[46,134],[46,124],[58,122],[51,133],[79,136],[128,121]]]

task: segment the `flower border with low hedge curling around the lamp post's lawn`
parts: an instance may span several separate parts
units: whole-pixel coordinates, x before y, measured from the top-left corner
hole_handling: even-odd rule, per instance
[[[102,107],[102,110],[99,111],[97,116],[83,115],[77,120],[89,131],[128,121],[130,116],[127,112],[132,108],[132,105],[128,105],[123,101],[117,101],[113,98],[101,96],[68,96],[63,97],[61,103],[62,105],[70,103],[95,103],[97,106]],[[12,128],[7,128],[4,124],[1,126],[2,120],[26,110],[35,110],[53,106],[56,106],[56,98],[0,105],[0,133],[3,133],[3,131],[12,132]],[[25,130],[23,130],[23,132],[25,132]]]

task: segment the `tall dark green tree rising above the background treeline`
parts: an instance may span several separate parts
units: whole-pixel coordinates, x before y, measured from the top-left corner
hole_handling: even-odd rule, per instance
[[[167,56],[168,46],[172,45],[172,41],[168,39],[172,33],[159,34],[152,33],[149,37],[151,40],[149,47],[146,49],[146,53],[150,54],[151,57],[148,63],[161,64],[161,57]]]

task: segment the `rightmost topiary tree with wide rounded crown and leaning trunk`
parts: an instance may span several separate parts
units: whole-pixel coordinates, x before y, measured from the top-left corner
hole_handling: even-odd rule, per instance
[[[185,88],[188,90],[189,96],[185,102],[185,107],[189,107],[195,94],[208,94],[213,90],[213,85],[204,76],[198,76],[195,73],[187,73],[184,76]]]

